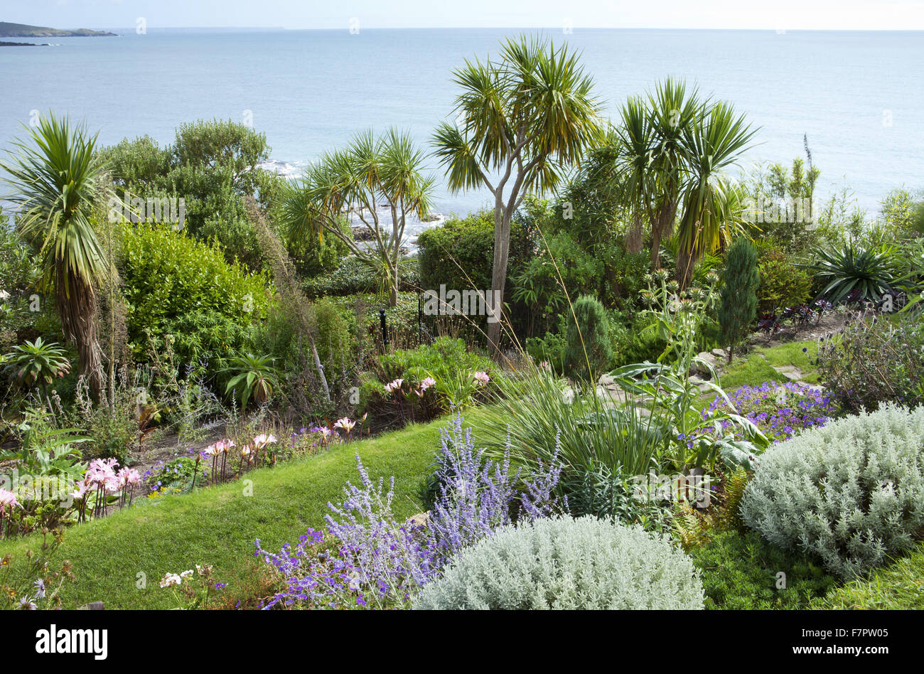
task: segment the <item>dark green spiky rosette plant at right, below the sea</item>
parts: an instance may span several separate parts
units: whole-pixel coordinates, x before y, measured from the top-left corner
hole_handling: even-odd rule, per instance
[[[824,284],[820,298],[836,304],[851,294],[857,300],[879,301],[893,290],[895,276],[891,250],[863,249],[852,243],[840,249],[817,250],[815,276]]]

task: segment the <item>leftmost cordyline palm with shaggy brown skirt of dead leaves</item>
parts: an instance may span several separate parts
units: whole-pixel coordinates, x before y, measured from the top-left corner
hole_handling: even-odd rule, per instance
[[[80,371],[95,397],[103,387],[103,362],[96,338],[96,286],[107,265],[92,214],[101,199],[103,164],[95,156],[96,136],[67,117],[40,118],[18,154],[0,163],[18,205],[19,235],[40,246],[41,290],[55,292],[61,325],[74,341]]]

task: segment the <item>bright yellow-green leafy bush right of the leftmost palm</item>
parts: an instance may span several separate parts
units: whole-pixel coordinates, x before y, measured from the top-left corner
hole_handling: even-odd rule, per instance
[[[266,316],[268,281],[228,263],[222,249],[169,227],[125,227],[122,277],[128,342],[136,357],[174,339],[177,358],[194,371],[220,369],[229,351],[246,349]]]

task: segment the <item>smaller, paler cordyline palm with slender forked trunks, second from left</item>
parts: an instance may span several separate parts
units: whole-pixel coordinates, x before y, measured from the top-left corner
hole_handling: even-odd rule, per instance
[[[346,148],[310,165],[300,183],[288,186],[283,208],[288,236],[322,237],[327,232],[340,239],[376,270],[395,306],[407,217],[422,218],[431,206],[433,179],[421,173],[424,158],[407,133],[389,129],[378,139],[371,132],[360,133]],[[390,231],[381,227],[381,206],[390,211]],[[344,232],[342,220],[350,213],[371,232],[369,248]]]

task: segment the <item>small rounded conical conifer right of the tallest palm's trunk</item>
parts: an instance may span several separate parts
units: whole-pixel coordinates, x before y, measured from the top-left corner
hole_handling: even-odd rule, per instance
[[[564,361],[566,374],[592,381],[613,362],[610,321],[597,298],[582,295],[575,301],[565,337]]]

